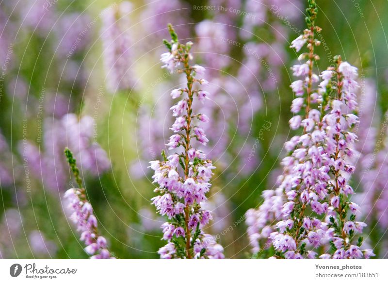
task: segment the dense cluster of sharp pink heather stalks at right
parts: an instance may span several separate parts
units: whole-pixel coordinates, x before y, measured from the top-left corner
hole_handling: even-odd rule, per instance
[[[358,154],[357,68],[335,56],[335,67],[320,76],[314,73],[319,60],[314,47],[320,45],[314,35],[321,29],[314,23],[315,1],[308,4],[307,29],[291,45],[299,51],[307,44],[308,50],[299,56],[305,62],[291,68],[302,79],[291,83],[297,98],[290,127],[302,134],[285,144],[279,186],[264,191],[264,203],[247,212],[248,233],[253,251],[261,251],[259,245],[265,243],[264,250],[275,250],[271,258],[369,258],[372,250],[360,248],[359,233],[366,224],[355,221],[359,206],[350,201],[354,190],[349,179]]]

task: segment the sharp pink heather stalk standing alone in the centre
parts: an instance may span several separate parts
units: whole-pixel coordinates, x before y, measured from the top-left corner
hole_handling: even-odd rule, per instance
[[[208,92],[196,88],[208,84],[205,79],[197,78],[204,74],[205,68],[190,65],[193,43],[179,43],[173,27],[169,25],[168,29],[172,40],[163,41],[169,51],[162,54],[162,67],[170,72],[177,69],[179,74],[185,75],[186,86],[171,92],[173,99],[180,98],[171,107],[176,120],[170,128],[174,134],[167,144],[169,150],[176,152],[167,157],[162,151],[162,161],[150,162],[150,167],[155,170],[154,183],[159,184],[155,192],[160,193],[152,198],[152,203],[161,215],[169,219],[162,224],[163,239],[168,243],[159,254],[163,259],[221,259],[224,258],[222,246],[202,229],[212,219],[210,211],[202,209],[201,203],[207,200],[205,194],[209,192],[211,170],[215,167],[201,150],[193,147],[195,140],[204,146],[209,141],[198,126],[199,122],[209,122],[209,118],[194,113],[193,108],[194,99],[204,103],[209,96]]]

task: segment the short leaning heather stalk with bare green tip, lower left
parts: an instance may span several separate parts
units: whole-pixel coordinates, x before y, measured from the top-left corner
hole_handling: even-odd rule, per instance
[[[108,250],[106,239],[98,233],[97,218],[93,214],[92,205],[86,199],[86,191],[82,186],[80,170],[73,158],[73,153],[66,148],[65,155],[79,186],[79,188],[71,188],[65,192],[65,199],[69,201],[69,209],[72,213],[70,220],[77,225],[77,230],[81,232],[80,240],[87,245],[84,250],[91,255],[91,259],[113,259],[115,257]]]

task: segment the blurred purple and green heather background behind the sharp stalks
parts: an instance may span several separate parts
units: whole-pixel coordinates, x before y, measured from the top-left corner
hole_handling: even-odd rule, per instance
[[[317,1],[321,57],[359,68],[359,172],[353,180],[368,241],[387,257],[388,2]],[[148,161],[166,150],[169,93],[161,68],[172,23],[207,68],[211,122],[204,148],[217,166],[208,232],[227,258],[251,257],[245,212],[281,173],[292,91],[290,42],[304,29],[303,0],[1,0],[0,258],[87,258],[63,194],[77,158],[118,258],[158,258],[163,246]],[[381,128],[382,127],[382,128]],[[379,137],[381,135],[381,141]],[[378,150],[375,148],[378,145]],[[373,192],[370,189],[373,188]],[[377,192],[377,193],[376,193]]]

